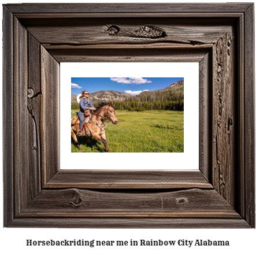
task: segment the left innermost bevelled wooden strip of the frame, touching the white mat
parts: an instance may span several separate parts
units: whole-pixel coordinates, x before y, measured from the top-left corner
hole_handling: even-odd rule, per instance
[[[60,64],[40,46],[42,184],[60,170]]]

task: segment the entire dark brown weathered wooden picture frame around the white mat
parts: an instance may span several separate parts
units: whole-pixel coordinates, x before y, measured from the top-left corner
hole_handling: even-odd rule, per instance
[[[60,170],[72,61],[199,62],[200,170]],[[3,119],[4,226],[255,228],[254,5],[3,5]]]

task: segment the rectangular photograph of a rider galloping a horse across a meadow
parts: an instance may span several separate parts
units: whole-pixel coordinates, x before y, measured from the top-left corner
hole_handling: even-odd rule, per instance
[[[184,152],[184,77],[72,77],[71,136],[71,152]]]

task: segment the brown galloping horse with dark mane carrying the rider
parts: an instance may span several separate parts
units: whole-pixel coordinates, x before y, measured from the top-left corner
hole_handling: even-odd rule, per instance
[[[89,121],[85,124],[86,133],[83,136],[93,137],[96,140],[101,141],[104,144],[105,151],[109,152],[107,147],[104,120],[105,118],[112,121],[113,124],[117,124],[118,120],[116,117],[116,112],[114,111],[114,105],[112,103],[99,102],[99,106],[92,114],[89,116]],[[79,122],[76,125],[71,125],[71,136],[79,150],[83,151],[77,142],[76,133],[79,131]]]

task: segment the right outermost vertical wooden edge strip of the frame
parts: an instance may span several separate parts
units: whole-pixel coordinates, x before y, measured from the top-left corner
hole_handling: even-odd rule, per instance
[[[255,224],[255,49],[254,36],[251,31],[254,30],[254,22],[250,22],[254,17],[254,5],[248,6],[245,13],[244,23],[246,24],[244,31],[244,161],[243,174],[244,181],[243,195],[244,202],[244,218],[249,224]],[[251,57],[254,55],[254,57]],[[242,64],[242,63],[241,63]],[[254,175],[254,176],[253,176]],[[244,205],[244,203],[246,203]]]

